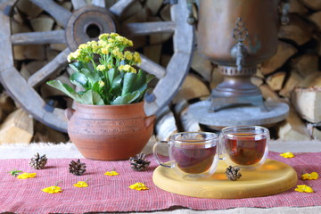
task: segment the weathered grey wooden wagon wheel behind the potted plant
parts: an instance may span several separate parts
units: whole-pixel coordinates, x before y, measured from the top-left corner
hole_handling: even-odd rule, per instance
[[[104,0],[71,0],[74,11],[70,12],[53,0],[30,0],[45,12],[49,13],[64,29],[47,32],[27,32],[12,34],[11,12],[17,0],[7,0],[0,12],[0,80],[12,98],[21,104],[35,119],[45,125],[66,132],[67,120],[63,109],[48,108],[44,99],[35,89],[44,84],[48,77],[60,67],[67,65],[67,55],[79,44],[86,43],[93,37],[86,34],[86,29],[99,29],[99,33],[116,31],[126,37],[136,37],[158,33],[173,33],[174,54],[166,68],[152,62],[142,55],[140,67],[159,78],[152,94],[147,95],[145,111],[153,114],[168,104],[182,84],[189,69],[193,49],[193,27],[186,20],[187,5],[184,0],[177,1],[170,8],[172,21],[121,23],[119,17],[135,0],[119,0],[105,8]],[[14,67],[12,45],[45,45],[66,44],[68,47],[59,53],[51,62],[37,70],[28,79]]]

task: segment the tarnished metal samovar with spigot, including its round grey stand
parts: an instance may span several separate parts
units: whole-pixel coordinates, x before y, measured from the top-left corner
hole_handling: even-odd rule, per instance
[[[212,89],[208,101],[191,105],[189,112],[195,119],[218,127],[265,125],[285,119],[288,106],[264,102],[259,87],[251,83],[258,65],[276,53],[278,25],[279,0],[199,2],[198,51],[218,64],[224,81]],[[245,116],[245,111],[257,114],[252,115],[256,119]],[[231,112],[236,118],[229,120]]]

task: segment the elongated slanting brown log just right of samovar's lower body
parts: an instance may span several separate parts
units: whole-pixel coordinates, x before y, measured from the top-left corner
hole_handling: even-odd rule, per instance
[[[276,54],[266,62],[263,62],[261,68],[262,74],[267,75],[276,71],[278,68],[284,65],[284,62],[286,62],[294,53],[297,52],[298,50],[292,45],[279,41]]]

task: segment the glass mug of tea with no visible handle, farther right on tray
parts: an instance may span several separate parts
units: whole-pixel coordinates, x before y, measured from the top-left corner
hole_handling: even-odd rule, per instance
[[[220,147],[228,164],[243,169],[258,169],[268,156],[268,128],[259,126],[226,127],[221,130]]]

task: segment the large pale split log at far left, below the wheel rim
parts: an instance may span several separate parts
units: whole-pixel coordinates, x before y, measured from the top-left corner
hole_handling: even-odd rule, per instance
[[[0,144],[29,144],[33,134],[33,119],[26,111],[18,109],[0,126]]]

